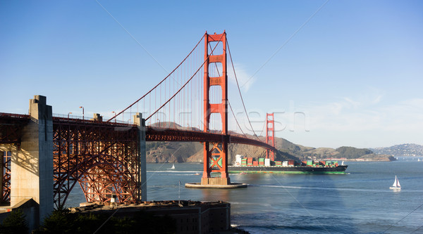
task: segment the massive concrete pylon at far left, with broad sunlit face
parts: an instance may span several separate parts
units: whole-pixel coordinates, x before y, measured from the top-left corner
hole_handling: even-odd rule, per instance
[[[30,100],[30,117],[20,150],[11,157],[11,207],[32,198],[39,204],[38,222],[42,222],[54,206],[53,121],[45,96]]]

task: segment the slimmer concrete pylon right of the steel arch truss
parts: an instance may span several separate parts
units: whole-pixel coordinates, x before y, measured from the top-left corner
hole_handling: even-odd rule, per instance
[[[140,175],[138,178],[138,200],[144,202],[147,201],[147,152],[145,148],[145,119],[142,119],[141,113],[134,115],[134,124],[137,124],[138,134],[140,136]]]

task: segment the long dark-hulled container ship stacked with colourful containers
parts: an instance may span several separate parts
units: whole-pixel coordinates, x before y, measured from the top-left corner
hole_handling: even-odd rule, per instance
[[[271,161],[259,158],[236,155],[235,164],[228,166],[231,173],[281,173],[281,174],[345,174],[348,165],[338,164],[338,161],[295,160]]]

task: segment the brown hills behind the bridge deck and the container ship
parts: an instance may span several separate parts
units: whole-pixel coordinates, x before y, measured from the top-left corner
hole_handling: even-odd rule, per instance
[[[166,126],[172,123],[161,123]],[[180,127],[180,126],[178,126]],[[180,127],[183,128],[183,127]],[[248,135],[247,137],[254,138]],[[259,136],[265,141],[264,136]],[[369,149],[359,149],[343,146],[340,148],[312,148],[298,145],[284,138],[275,138],[275,147],[278,149],[276,160],[310,160],[325,158],[345,158],[363,160],[393,160],[389,155],[379,155]],[[230,144],[228,147],[228,163],[235,161],[235,155],[245,157],[266,157],[266,150],[252,145]],[[203,145],[197,142],[147,142],[147,162],[202,162]]]

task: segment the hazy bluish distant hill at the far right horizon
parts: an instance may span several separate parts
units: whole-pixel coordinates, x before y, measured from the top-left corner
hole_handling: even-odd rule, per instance
[[[395,157],[415,157],[423,156],[423,145],[401,144],[390,147],[373,148],[372,151],[378,154],[393,155]]]

